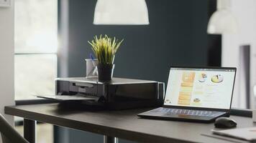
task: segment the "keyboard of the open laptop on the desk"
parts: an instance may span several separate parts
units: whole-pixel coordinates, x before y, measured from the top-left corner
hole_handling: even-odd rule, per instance
[[[212,112],[212,111],[206,111],[206,110],[194,110],[194,109],[172,109],[172,108],[157,108],[152,110],[151,112],[160,112],[165,115],[168,114],[184,114],[184,115],[191,115],[191,116],[201,116],[201,117],[216,117],[221,114],[224,114],[224,112]]]

